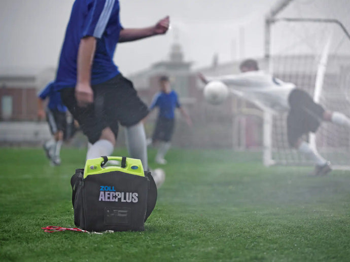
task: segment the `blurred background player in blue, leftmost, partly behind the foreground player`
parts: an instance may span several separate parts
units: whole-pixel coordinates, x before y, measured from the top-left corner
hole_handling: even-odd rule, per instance
[[[49,99],[44,110],[44,100]],[[38,95],[38,117],[44,119],[46,116],[53,137],[44,143],[46,156],[52,164],[60,165],[60,150],[63,143],[64,133],[67,128],[67,107],[61,101],[61,95],[56,92],[53,83],[49,83]]]

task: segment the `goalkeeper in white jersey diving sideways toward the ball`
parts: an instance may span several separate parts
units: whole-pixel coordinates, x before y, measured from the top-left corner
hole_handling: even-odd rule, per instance
[[[350,119],[342,113],[326,110],[294,84],[285,83],[259,70],[256,60],[244,60],[239,68],[241,74],[217,77],[215,80],[224,82],[233,94],[255,103],[263,110],[273,113],[288,111],[287,135],[290,146],[297,148],[314,162],[316,168],[312,175],[325,175],[330,172],[330,163],[304,141],[302,136],[308,132],[316,132],[322,121],[350,129]],[[204,83],[209,80],[202,74],[199,77]]]

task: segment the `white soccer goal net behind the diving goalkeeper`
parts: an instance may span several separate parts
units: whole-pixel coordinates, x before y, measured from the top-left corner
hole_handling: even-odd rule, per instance
[[[305,90],[325,109],[350,117],[350,24],[346,16],[341,20],[348,12],[350,3],[345,1],[293,1],[272,18],[268,63],[275,77]],[[264,113],[265,165],[312,164],[290,148],[286,119],[287,114]],[[316,134],[304,139],[333,168],[350,169],[350,130],[323,122]]]

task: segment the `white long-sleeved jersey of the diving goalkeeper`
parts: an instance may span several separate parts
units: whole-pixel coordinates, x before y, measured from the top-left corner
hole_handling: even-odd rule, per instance
[[[261,70],[208,78],[208,80],[225,83],[231,93],[274,114],[289,110],[288,97],[295,88],[293,83],[283,82]]]

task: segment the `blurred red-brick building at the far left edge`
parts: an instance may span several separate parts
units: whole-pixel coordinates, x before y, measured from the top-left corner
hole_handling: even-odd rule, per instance
[[[50,138],[47,123],[37,122],[37,94],[54,75],[55,68],[0,69],[0,145],[33,145]]]

